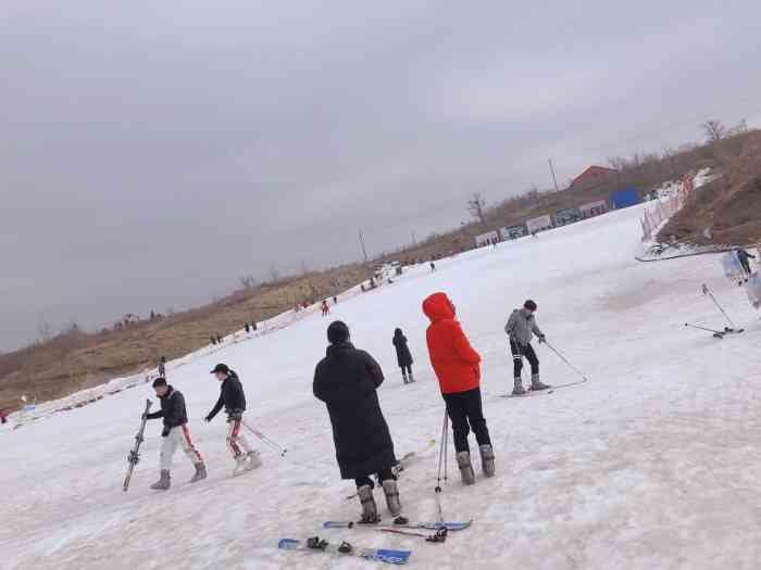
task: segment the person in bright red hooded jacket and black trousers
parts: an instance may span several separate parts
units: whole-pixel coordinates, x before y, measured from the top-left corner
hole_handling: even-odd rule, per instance
[[[478,442],[484,474],[495,474],[495,454],[481,400],[481,355],[467,341],[454,318],[454,305],[445,293],[434,293],[423,301],[423,313],[431,319],[428,354],[452,421],[458,467],[462,482],[472,485],[475,473],[467,444],[470,429]]]

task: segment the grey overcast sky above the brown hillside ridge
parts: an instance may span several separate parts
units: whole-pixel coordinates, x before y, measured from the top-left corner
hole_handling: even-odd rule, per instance
[[[539,7],[538,4],[546,4]],[[723,5],[722,5],[723,4]],[[761,4],[4,0],[0,350],[761,117]]]

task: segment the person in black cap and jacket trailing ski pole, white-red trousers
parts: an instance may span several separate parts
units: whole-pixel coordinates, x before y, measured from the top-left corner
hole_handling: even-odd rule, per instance
[[[240,433],[246,411],[246,394],[240,379],[235,370],[226,364],[217,364],[211,371],[216,379],[222,382],[220,387],[220,398],[214,404],[209,415],[205,417],[207,423],[214,419],[224,407],[227,414],[227,448],[235,459],[234,474],[250,471],[262,465],[259,453],[249,445],[246,436]]]

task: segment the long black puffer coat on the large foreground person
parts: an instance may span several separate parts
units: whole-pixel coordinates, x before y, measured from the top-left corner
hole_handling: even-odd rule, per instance
[[[349,342],[328,346],[314,371],[314,395],[327,405],[344,479],[367,477],[397,463],[375,392],[383,380],[378,363]]]

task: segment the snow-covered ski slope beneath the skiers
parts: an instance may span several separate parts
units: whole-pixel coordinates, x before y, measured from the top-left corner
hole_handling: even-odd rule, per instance
[[[444,410],[425,350],[422,300],[447,292],[483,356],[498,473],[461,486],[450,448],[445,516],[475,522],[446,544],[321,528],[323,520],[355,518],[359,503],[345,498],[353,483],[338,477],[327,413],[311,393],[330,320],[315,315],[169,367],[209,467],[209,479],[196,485],[186,483],[191,467],[177,454],[173,489],[149,491],[159,470],[155,421],[133,486],[122,492],[149,385],[0,432],[0,567],[376,567],[276,549],[280,537],[317,534],[411,548],[413,568],[758,567],[761,324],[745,292],[721,277],[715,256],[635,262],[640,214],[633,207],[444,259],[436,274],[412,269],[333,308],[355,345],[383,365],[379,397],[397,455],[420,452],[399,482],[414,520],[436,517],[437,449],[426,443],[440,436]],[[744,334],[715,340],[684,327],[724,325],[700,293],[703,282],[746,327]],[[499,397],[512,387],[502,328],[526,297],[537,301],[550,342],[590,382]],[[409,338],[415,384],[404,385],[396,368],[396,327]],[[537,352],[546,382],[575,379],[548,350]],[[261,447],[264,466],[245,477],[232,477],[224,420],[202,422],[219,394],[209,373],[217,362],[239,372],[248,420],[289,449],[279,458]],[[384,504],[377,491],[376,499]]]

